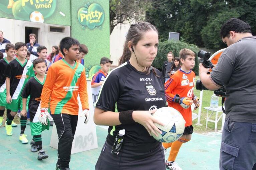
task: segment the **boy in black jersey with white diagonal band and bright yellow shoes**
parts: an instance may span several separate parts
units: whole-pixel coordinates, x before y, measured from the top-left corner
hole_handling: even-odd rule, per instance
[[[33,77],[33,64],[27,61],[27,46],[25,43],[15,44],[15,53],[17,58],[9,63],[7,66],[4,76],[6,76],[6,108],[10,109],[11,112],[7,117],[5,129],[8,136],[12,135],[11,123],[17,111],[22,107],[21,91],[27,81]],[[20,117],[20,136],[19,140],[21,143],[26,144],[28,140],[24,134],[26,128],[27,117]]]

